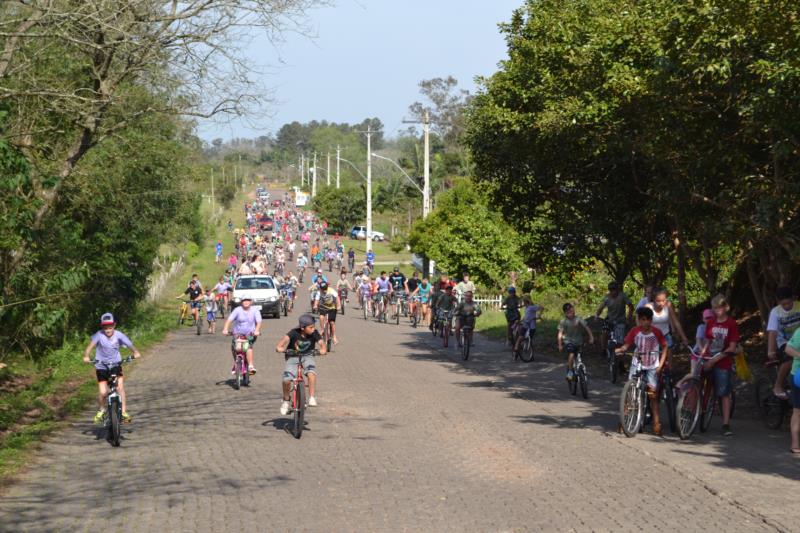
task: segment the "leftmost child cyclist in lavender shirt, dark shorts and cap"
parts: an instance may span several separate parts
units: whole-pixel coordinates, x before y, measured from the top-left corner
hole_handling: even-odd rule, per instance
[[[112,373],[117,375],[117,392],[119,392],[119,399],[122,401],[122,421],[131,421],[125,398],[125,387],[123,386],[122,356],[119,353],[121,346],[128,347],[133,352],[134,359],[142,356],[127,335],[116,330],[114,315],[104,313],[100,317],[100,330],[92,335],[89,345],[83,351],[83,361],[88,363],[90,362],[89,356],[92,350],[96,348],[94,356],[96,361],[95,374],[97,375],[97,403],[100,405],[100,410],[94,415],[95,424],[103,422],[103,415],[106,412],[106,396],[108,396],[108,378]],[[106,368],[104,363],[114,366]]]

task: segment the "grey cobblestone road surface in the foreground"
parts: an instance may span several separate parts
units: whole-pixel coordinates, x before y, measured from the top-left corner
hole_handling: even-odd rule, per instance
[[[301,305],[302,307],[303,305]],[[567,395],[555,362],[467,363],[427,330],[348,315],[302,439],[278,413],[268,320],[252,387],[228,340],[184,328],[131,368],[135,420],[111,448],[91,412],[0,499],[2,531],[797,531],[788,435],[746,423],[691,442],[616,434],[619,388]],[[221,329],[221,328],[220,328]]]

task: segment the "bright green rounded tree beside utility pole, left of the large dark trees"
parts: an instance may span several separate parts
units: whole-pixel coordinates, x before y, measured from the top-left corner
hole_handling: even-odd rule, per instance
[[[487,287],[502,287],[508,272],[525,270],[522,239],[468,179],[437,197],[436,209],[414,224],[409,244],[440,270],[469,272]]]

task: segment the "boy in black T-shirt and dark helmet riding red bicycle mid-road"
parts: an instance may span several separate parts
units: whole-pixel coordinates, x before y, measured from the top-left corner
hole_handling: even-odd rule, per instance
[[[289,414],[289,387],[292,381],[297,378],[297,365],[300,358],[303,360],[303,369],[308,378],[308,405],[317,406],[317,364],[314,358],[314,348],[319,350],[320,355],[325,355],[325,343],[322,342],[322,335],[314,327],[313,315],[301,315],[295,329],[289,331],[278,341],[275,351],[286,353],[286,350],[297,352],[293,355],[285,355],[283,367],[283,400],[281,401],[281,415]]]

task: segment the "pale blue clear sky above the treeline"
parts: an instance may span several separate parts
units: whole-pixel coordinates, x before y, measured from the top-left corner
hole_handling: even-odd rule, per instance
[[[276,100],[271,116],[200,124],[200,136],[257,137],[286,122],[360,122],[377,116],[387,135],[420,100],[420,80],[452,75],[473,92],[506,57],[497,29],[523,0],[338,0],[311,13],[316,37],[256,38],[248,55],[269,66],[260,82]],[[254,123],[257,122],[257,123]]]

